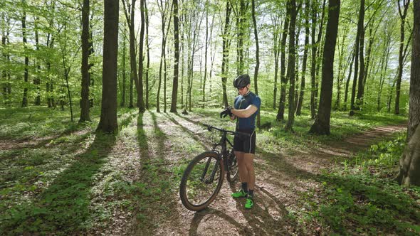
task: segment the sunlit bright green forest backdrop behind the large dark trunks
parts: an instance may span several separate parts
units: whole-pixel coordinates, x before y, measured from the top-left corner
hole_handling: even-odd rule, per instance
[[[138,77],[130,75],[130,60],[134,60],[132,63],[136,67],[139,60],[141,21],[140,6],[137,5],[140,4],[130,9],[135,3],[120,3],[117,99],[122,107],[137,104],[137,90],[133,89],[135,82],[130,79]],[[286,55],[290,50],[290,37],[286,16],[290,16],[285,4],[285,1],[258,1],[255,4],[257,53],[251,2],[180,1],[180,89],[177,94],[180,100],[177,106],[187,110],[203,106],[221,107],[224,90],[231,103],[231,97],[236,95],[231,80],[241,73],[252,76],[258,55],[259,70],[255,82],[258,82],[263,107],[287,108],[288,99],[285,98],[290,83],[286,71],[290,63]],[[361,54],[364,65],[357,66],[357,70],[362,70],[357,72],[355,64],[359,53],[355,55],[355,41],[359,40],[356,33],[359,4],[358,1],[345,1],[340,7],[332,107],[347,110],[352,101],[363,97],[359,104],[362,110],[406,113],[413,28],[412,14],[407,12],[412,6],[385,0],[364,4],[363,35],[359,36],[362,44],[357,45],[357,48],[364,48]],[[298,101],[298,114],[304,107],[313,109],[312,116],[315,117],[327,2],[305,1],[298,5],[293,29],[295,42],[291,43],[296,53],[295,100]],[[172,1],[145,2],[145,36],[142,41],[145,47],[142,52],[142,90],[145,94],[142,99],[146,107],[157,111],[163,108],[164,112],[172,99],[174,75],[172,9]],[[88,11],[85,18],[83,11]],[[88,30],[85,34],[83,25]],[[68,109],[72,103],[78,107],[83,85],[80,70],[83,41],[88,44],[85,47],[88,50],[90,106],[100,104],[103,1],[3,1],[1,35],[2,106],[36,104]],[[402,55],[399,55],[401,47]],[[360,76],[362,80],[357,79]],[[222,89],[222,81],[226,80],[226,88]],[[358,81],[362,81],[362,86],[353,88]]]

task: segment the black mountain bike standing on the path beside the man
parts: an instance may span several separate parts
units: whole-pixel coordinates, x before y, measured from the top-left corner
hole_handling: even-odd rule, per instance
[[[228,134],[250,136],[243,132],[233,132],[227,129],[204,124],[209,132],[221,132],[221,139],[213,144],[211,151],[204,151],[196,156],[187,166],[179,186],[179,196],[182,204],[188,210],[202,210],[216,198],[224,181],[232,183],[238,177],[238,163],[233,153],[233,144],[227,138]],[[229,144],[229,149],[227,144]],[[216,148],[220,146],[221,151]]]

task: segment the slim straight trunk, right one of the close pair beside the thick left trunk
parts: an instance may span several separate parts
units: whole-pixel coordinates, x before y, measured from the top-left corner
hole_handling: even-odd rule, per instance
[[[143,46],[145,39],[145,0],[140,0],[140,45],[139,45],[139,83],[137,93],[137,104],[139,106],[139,112],[145,112],[145,100],[143,100]]]

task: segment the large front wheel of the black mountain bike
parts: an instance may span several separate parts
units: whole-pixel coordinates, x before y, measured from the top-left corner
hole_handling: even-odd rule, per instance
[[[188,210],[202,210],[216,198],[224,180],[219,155],[206,151],[196,156],[184,171],[179,186],[182,204]]]

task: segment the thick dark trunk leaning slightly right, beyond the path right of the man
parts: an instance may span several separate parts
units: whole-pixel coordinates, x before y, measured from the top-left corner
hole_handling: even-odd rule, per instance
[[[327,31],[322,55],[322,84],[320,94],[320,109],[310,133],[330,134],[330,117],[332,102],[332,84],[334,82],[334,54],[337,41],[338,19],[340,16],[340,0],[330,0],[328,3]]]

